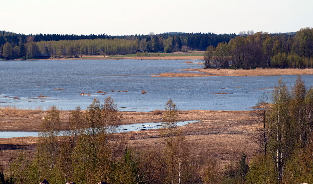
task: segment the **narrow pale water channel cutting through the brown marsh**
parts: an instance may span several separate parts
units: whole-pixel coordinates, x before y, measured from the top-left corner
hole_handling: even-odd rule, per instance
[[[179,121],[177,126],[184,126],[189,123],[194,123],[197,121]],[[117,132],[131,132],[138,130],[151,130],[162,128],[162,122],[150,122],[150,123],[136,123],[136,124],[127,124],[119,126]],[[62,131],[60,135],[62,135]],[[0,131],[0,138],[12,138],[12,137],[37,137],[38,132],[21,132],[21,131]]]

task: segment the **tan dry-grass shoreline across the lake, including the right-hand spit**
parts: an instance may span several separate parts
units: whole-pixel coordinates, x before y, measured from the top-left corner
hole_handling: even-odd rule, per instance
[[[198,60],[198,64],[202,62],[203,56],[197,56],[203,51],[192,51],[187,53],[171,53],[160,57],[123,57],[118,56],[103,56],[103,55],[83,55],[79,58],[49,58],[44,60]],[[171,56],[172,55],[172,56]],[[177,56],[180,55],[180,56]],[[184,56],[187,55],[187,56]],[[195,55],[195,56],[192,56]],[[16,59],[27,61],[23,59]],[[39,60],[39,59],[36,59]],[[201,60],[201,61],[199,61]],[[33,61],[33,60],[29,60]],[[190,61],[188,61],[190,62]],[[199,66],[201,66],[199,64]],[[313,69],[277,69],[277,68],[257,68],[257,69],[182,69],[181,73],[161,73],[159,75],[152,75],[152,77],[211,77],[211,76],[280,76],[280,75],[313,75]],[[193,73],[192,73],[193,72]]]

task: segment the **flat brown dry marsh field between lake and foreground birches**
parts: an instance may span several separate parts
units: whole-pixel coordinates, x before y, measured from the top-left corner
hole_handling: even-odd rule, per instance
[[[68,121],[69,111],[61,112],[62,128]],[[38,110],[22,110],[16,108],[0,109],[0,131],[37,131],[47,112]],[[162,114],[152,112],[122,112],[123,124],[160,122]],[[192,154],[197,158],[216,157],[222,165],[230,161],[238,161],[244,151],[248,161],[254,155],[256,144],[253,139],[254,120],[252,111],[179,111],[178,121],[198,120],[179,127],[189,144]],[[252,124],[251,124],[252,123]],[[147,148],[160,148],[164,141],[159,130],[141,130],[125,133],[127,147],[141,152]],[[10,156],[18,148],[27,148],[34,155],[36,137],[0,138],[1,163],[7,167]]]

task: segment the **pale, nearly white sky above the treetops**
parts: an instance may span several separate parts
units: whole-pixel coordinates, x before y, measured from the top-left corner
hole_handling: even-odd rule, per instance
[[[285,33],[312,18],[311,0],[0,0],[0,30],[26,35]]]

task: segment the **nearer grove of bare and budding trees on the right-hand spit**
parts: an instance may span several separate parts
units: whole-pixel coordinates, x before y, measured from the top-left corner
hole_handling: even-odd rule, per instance
[[[312,68],[313,28],[300,29],[295,35],[237,36],[228,43],[208,46],[204,55],[205,68]]]

